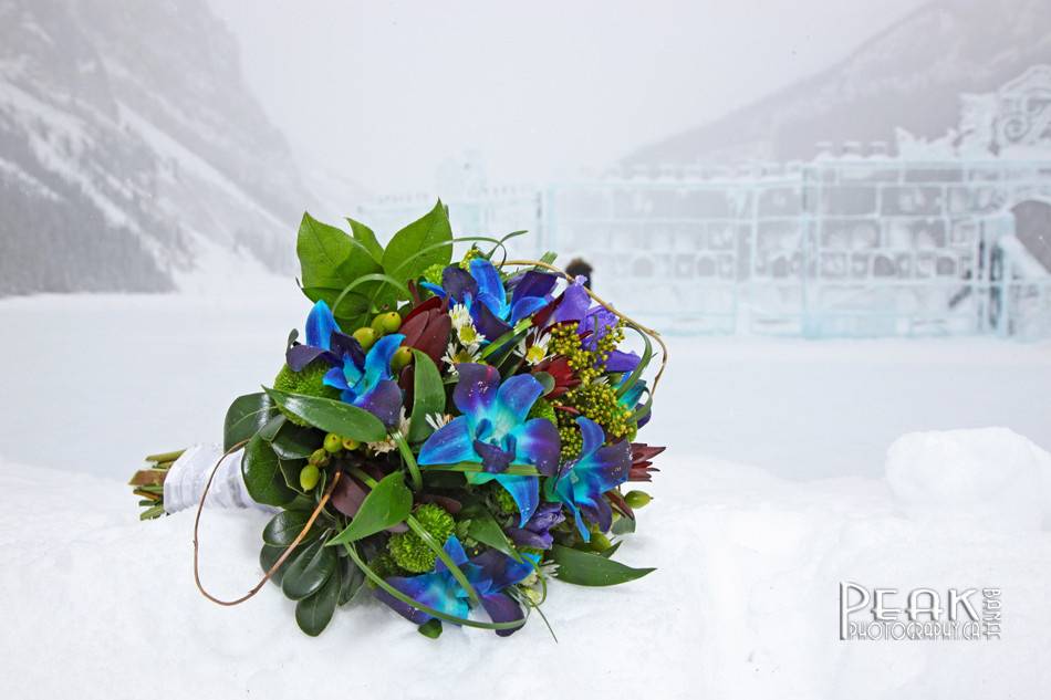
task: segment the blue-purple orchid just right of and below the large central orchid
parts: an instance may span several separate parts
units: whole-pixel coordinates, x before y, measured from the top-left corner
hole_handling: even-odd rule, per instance
[[[548,481],[549,497],[565,503],[576,520],[576,530],[584,542],[591,533],[582,515],[597,523],[602,532],[613,524],[613,510],[603,494],[627,481],[632,469],[632,449],[626,440],[603,447],[602,426],[583,416],[577,417],[583,437],[580,457],[562,464],[558,479]]]

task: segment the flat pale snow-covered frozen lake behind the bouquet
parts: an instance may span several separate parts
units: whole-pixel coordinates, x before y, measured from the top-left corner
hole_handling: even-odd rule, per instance
[[[292,283],[240,299],[0,301],[0,456],[124,479],[144,455],[219,441],[227,405],[272,380],[306,310]],[[904,432],[986,426],[1051,449],[1051,343],[668,342],[643,436],[683,458],[791,479],[878,477]]]

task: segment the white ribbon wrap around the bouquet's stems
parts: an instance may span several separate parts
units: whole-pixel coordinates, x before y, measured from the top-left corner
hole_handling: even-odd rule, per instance
[[[195,445],[175,460],[164,480],[164,510],[177,513],[188,508],[197,508],[205,492],[205,484],[222,457],[218,445]],[[208,490],[208,508],[251,508],[274,513],[277,509],[257,503],[248,494],[244,478],[241,476],[241,458],[244,450],[230,452],[222,458],[216,471],[216,478]]]

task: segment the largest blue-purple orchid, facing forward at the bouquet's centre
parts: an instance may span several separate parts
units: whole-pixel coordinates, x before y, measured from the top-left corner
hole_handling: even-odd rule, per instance
[[[419,450],[420,467],[478,462],[482,472],[468,472],[471,483],[496,480],[511,494],[524,526],[540,502],[537,477],[504,474],[509,464],[532,464],[553,476],[559,464],[559,430],[547,418],[527,419],[543,394],[532,375],[500,383],[496,367],[465,363],[456,366],[460,380],[452,403],[462,414],[436,431]]]

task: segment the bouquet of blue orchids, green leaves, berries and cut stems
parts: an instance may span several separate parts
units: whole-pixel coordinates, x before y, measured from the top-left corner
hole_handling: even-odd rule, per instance
[[[274,512],[266,574],[238,600],[209,594],[195,525],[201,593],[232,605],[269,579],[309,635],[367,591],[430,637],[443,623],[506,636],[552,576],[606,586],[653,571],[612,555],[649,502],[623,489],[649,481],[664,449],[636,441],[660,375],[647,386],[653,343],[660,370],[667,355],[657,334],[552,253],[507,260],[521,232],[454,238],[441,202],[386,248],[348,222],[350,234],[304,216],[304,337],[292,331],[277,377],[233,400],[199,493],[197,525],[235,461],[239,488]],[[460,260],[457,241],[471,243]],[[641,354],[622,348],[627,332]],[[144,516],[165,512],[184,459],[156,456],[133,479]]]

